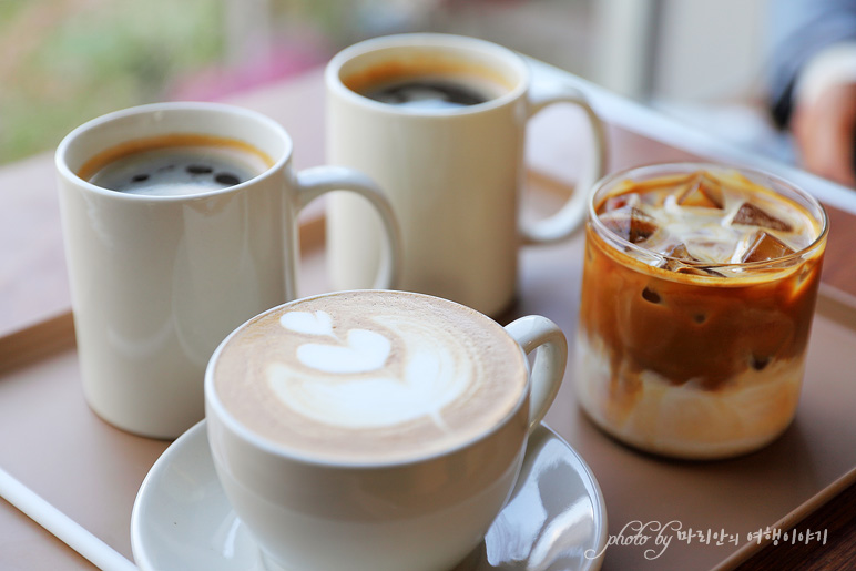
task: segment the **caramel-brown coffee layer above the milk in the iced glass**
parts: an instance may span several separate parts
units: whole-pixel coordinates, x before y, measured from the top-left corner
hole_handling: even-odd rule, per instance
[[[716,278],[649,266],[587,228],[581,319],[609,347],[628,384],[653,370],[674,384],[715,389],[805,351],[821,257],[799,259],[766,279]],[[753,276],[754,277],[754,276]]]

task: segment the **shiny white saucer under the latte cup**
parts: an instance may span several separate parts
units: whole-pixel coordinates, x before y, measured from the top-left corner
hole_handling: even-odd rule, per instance
[[[607,510],[598,481],[542,425],[529,440],[511,501],[456,571],[597,570],[605,543]],[[131,544],[143,571],[265,569],[217,481],[204,420],[166,449],[140,487]],[[587,552],[601,557],[589,559]]]

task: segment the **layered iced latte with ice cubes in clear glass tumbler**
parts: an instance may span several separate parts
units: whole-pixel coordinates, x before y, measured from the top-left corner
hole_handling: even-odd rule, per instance
[[[577,347],[582,408],[655,453],[723,458],[796,409],[827,220],[753,171],[671,164],[594,190]]]

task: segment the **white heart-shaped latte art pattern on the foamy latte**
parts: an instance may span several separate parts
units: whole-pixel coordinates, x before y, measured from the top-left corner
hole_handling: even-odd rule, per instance
[[[307,335],[289,327],[289,317],[308,320],[304,315],[309,314],[287,313],[279,323]],[[325,312],[316,312],[316,318],[332,323]],[[393,341],[384,334],[350,329],[346,339],[338,339],[332,330],[318,332],[314,336],[332,339],[298,345],[300,367],[276,363],[267,370],[276,397],[295,412],[332,426],[389,427],[427,416],[447,430],[442,409],[463,394],[470,378],[480,376],[479,364],[460,355],[445,330],[428,332],[424,324],[397,323],[401,320],[383,315],[368,319],[395,336],[395,345],[404,348],[404,363],[387,366]],[[360,373],[367,375],[353,377]]]

